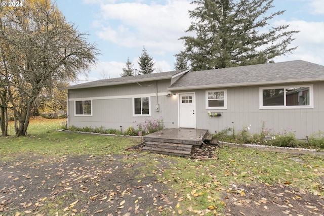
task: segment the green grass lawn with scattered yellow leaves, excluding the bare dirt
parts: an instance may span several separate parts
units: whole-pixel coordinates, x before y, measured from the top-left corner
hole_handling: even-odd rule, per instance
[[[0,138],[0,161],[15,160],[17,155],[107,155],[131,154],[127,147],[141,143],[141,139],[119,136],[97,136],[80,133],[58,132],[62,119],[32,120],[28,136]],[[213,209],[222,212],[221,196],[232,185],[264,184],[289,185],[309,193],[323,196],[324,160],[317,155],[297,155],[260,151],[250,148],[223,146],[215,152],[217,159],[206,161],[182,157],[154,155],[141,152],[137,160],[173,161],[158,176],[161,184],[168,185],[179,201],[178,214]],[[132,163],[132,159],[127,160]],[[140,167],[145,175],[154,174],[154,166]],[[139,179],[141,174],[138,175]],[[190,211],[189,211],[189,210]],[[215,212],[214,212],[215,213]],[[190,213],[191,214],[191,213]],[[163,215],[163,214],[161,214]],[[166,214],[169,215],[169,214]],[[205,214],[208,215],[208,214]]]

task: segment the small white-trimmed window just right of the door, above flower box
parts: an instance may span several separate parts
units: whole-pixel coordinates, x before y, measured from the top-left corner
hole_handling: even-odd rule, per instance
[[[227,91],[206,91],[206,109],[227,109]]]

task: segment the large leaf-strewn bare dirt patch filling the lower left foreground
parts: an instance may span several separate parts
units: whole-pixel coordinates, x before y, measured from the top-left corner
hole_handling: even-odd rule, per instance
[[[134,154],[48,160],[31,155],[3,163],[0,215],[156,215],[164,206],[175,205],[171,190],[157,179],[168,161],[159,161],[155,174],[149,170],[145,175],[137,170],[145,167],[137,158]]]

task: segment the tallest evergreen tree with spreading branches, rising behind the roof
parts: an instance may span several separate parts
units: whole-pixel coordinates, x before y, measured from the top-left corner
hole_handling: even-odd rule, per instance
[[[269,13],[273,0],[195,0],[189,11],[192,22],[183,36],[186,58],[193,70],[226,68],[273,61],[292,53],[289,25],[269,26],[269,21],[285,11]],[[270,30],[266,30],[270,29]]]

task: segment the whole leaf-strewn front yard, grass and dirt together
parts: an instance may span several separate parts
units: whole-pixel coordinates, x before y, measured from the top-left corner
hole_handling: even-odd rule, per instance
[[[139,138],[56,132],[0,138],[0,215],[323,215],[321,154],[221,145],[214,158],[127,151]]]

